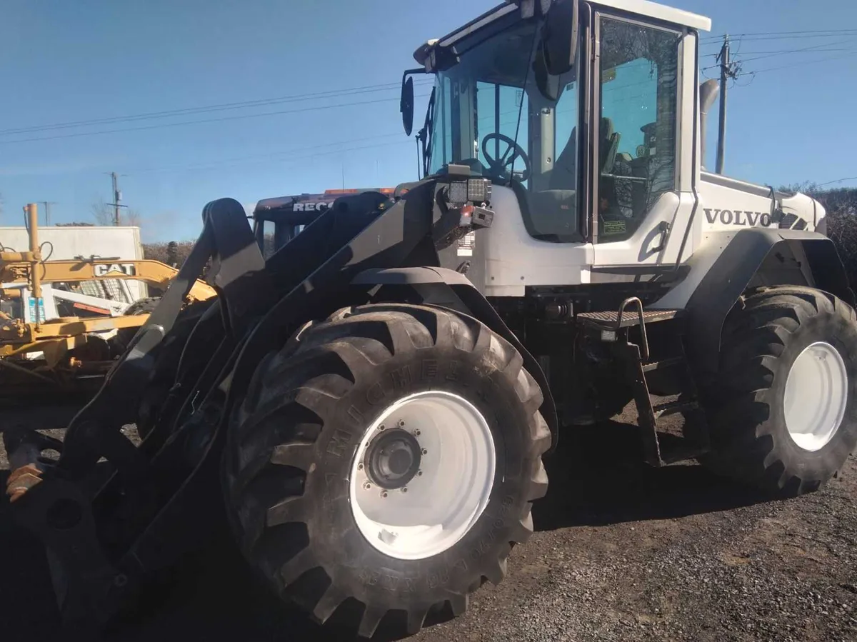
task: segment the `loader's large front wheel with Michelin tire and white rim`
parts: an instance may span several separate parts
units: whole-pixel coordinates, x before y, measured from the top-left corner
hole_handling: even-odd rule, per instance
[[[532,532],[530,502],[547,490],[541,405],[518,351],[450,310],[369,305],[309,324],[260,363],[231,422],[224,483],[238,542],[280,597],[322,623],[336,612],[363,637],[382,620],[413,634],[430,611],[461,615]],[[469,493],[480,480],[482,495]],[[431,513],[458,504],[469,520],[446,540],[415,526],[456,524]]]

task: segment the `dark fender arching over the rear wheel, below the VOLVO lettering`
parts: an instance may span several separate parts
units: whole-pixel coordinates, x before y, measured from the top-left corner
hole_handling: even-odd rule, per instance
[[[703,378],[716,373],[723,322],[764,261],[783,245],[799,244],[815,287],[854,306],[854,292],[836,246],[817,232],[751,228],[735,232],[687,300],[687,349]],[[806,285],[795,283],[793,285]]]

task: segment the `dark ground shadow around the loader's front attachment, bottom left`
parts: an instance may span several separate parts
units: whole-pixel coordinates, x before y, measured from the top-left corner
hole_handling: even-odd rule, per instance
[[[9,471],[0,471],[3,487],[7,477]],[[224,524],[213,523],[211,537],[206,542],[201,542],[160,585],[147,588],[135,614],[117,620],[100,637],[63,629],[45,551],[39,541],[12,522],[9,503],[3,499],[0,499],[0,569],[3,642],[32,639],[351,642],[357,639],[338,626],[339,613],[333,616],[333,622],[321,627],[297,609],[285,607],[249,571]],[[426,623],[445,619],[447,614],[438,614]],[[381,628],[376,639],[393,638]]]

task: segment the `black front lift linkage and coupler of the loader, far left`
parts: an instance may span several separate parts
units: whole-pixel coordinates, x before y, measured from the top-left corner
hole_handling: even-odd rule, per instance
[[[176,467],[183,460],[181,439],[166,440],[159,449],[142,448],[121,431],[123,423],[135,421],[159,348],[177,322],[191,285],[211,261],[219,291],[220,315],[214,320],[223,328],[224,343],[246,331],[250,315],[272,304],[273,290],[260,272],[264,261],[241,204],[213,201],[203,219],[188,260],[99,393],[71,421],[62,443],[33,432],[3,435],[16,468],[10,479],[23,471],[16,478],[24,483],[13,481],[7,489],[13,516],[45,543],[67,624],[99,627],[109,621],[133,603],[135,589],[148,572],[175,559],[180,535],[193,532],[188,519],[192,522],[199,514],[198,507],[187,501],[186,491],[200,485],[195,473],[201,465]],[[220,360],[223,368],[231,347],[222,359],[216,347],[205,346],[196,358],[213,355],[210,363]],[[195,381],[189,383],[193,392]],[[57,461],[41,457],[48,448],[60,452]],[[213,479],[216,483],[217,477]],[[210,491],[210,477],[207,484]],[[165,514],[168,528],[159,531]],[[184,519],[177,519],[182,515]]]

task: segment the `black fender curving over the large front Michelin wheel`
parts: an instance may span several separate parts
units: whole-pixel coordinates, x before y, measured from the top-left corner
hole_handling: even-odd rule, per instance
[[[548,453],[554,452],[559,442],[560,423],[556,414],[554,395],[548,387],[548,377],[542,371],[536,357],[530,354],[515,333],[506,326],[506,322],[494,306],[488,303],[488,299],[482,296],[482,292],[476,290],[476,286],[464,274],[446,267],[370,269],[357,274],[351,283],[363,287],[381,285],[382,289],[395,293],[395,298],[399,301],[403,300],[401,293],[406,289],[410,291],[410,298],[414,303],[438,305],[470,315],[514,345],[521,357],[524,357],[524,368],[542,388],[544,400],[540,410],[542,417],[548,423],[551,435]],[[381,294],[380,290],[379,294]]]

